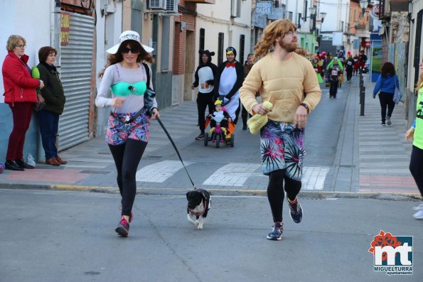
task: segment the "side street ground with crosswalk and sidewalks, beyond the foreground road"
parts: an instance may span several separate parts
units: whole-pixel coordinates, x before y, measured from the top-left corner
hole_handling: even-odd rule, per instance
[[[339,88],[338,99],[329,99],[328,88],[322,85],[323,97],[310,114],[306,129],[306,150],[311,150],[306,155],[302,193],[394,193],[419,197],[408,170],[412,145],[404,139],[404,104],[400,102],[395,107],[391,126],[381,126],[379,102],[372,97],[374,83],[365,76],[364,84],[364,116],[359,115],[358,76]],[[332,107],[334,103],[341,107]],[[332,111],[336,111],[332,120],[314,122],[323,112]],[[259,164],[257,135],[238,126],[234,148],[216,149],[213,144],[204,147],[202,141],[194,140],[199,133],[196,102],[183,102],[160,112],[198,188],[215,194],[265,192],[267,178]],[[336,137],[329,137],[333,131]],[[238,147],[242,151],[237,151]],[[333,158],[325,151],[331,148]],[[117,191],[114,163],[104,136],[60,152],[60,156],[69,163],[60,167],[40,163],[36,169],[24,172],[5,170],[0,175],[0,188]],[[171,143],[156,121],[151,122],[151,138],[136,180],[138,192],[144,193],[180,194],[181,190],[191,189]]]

